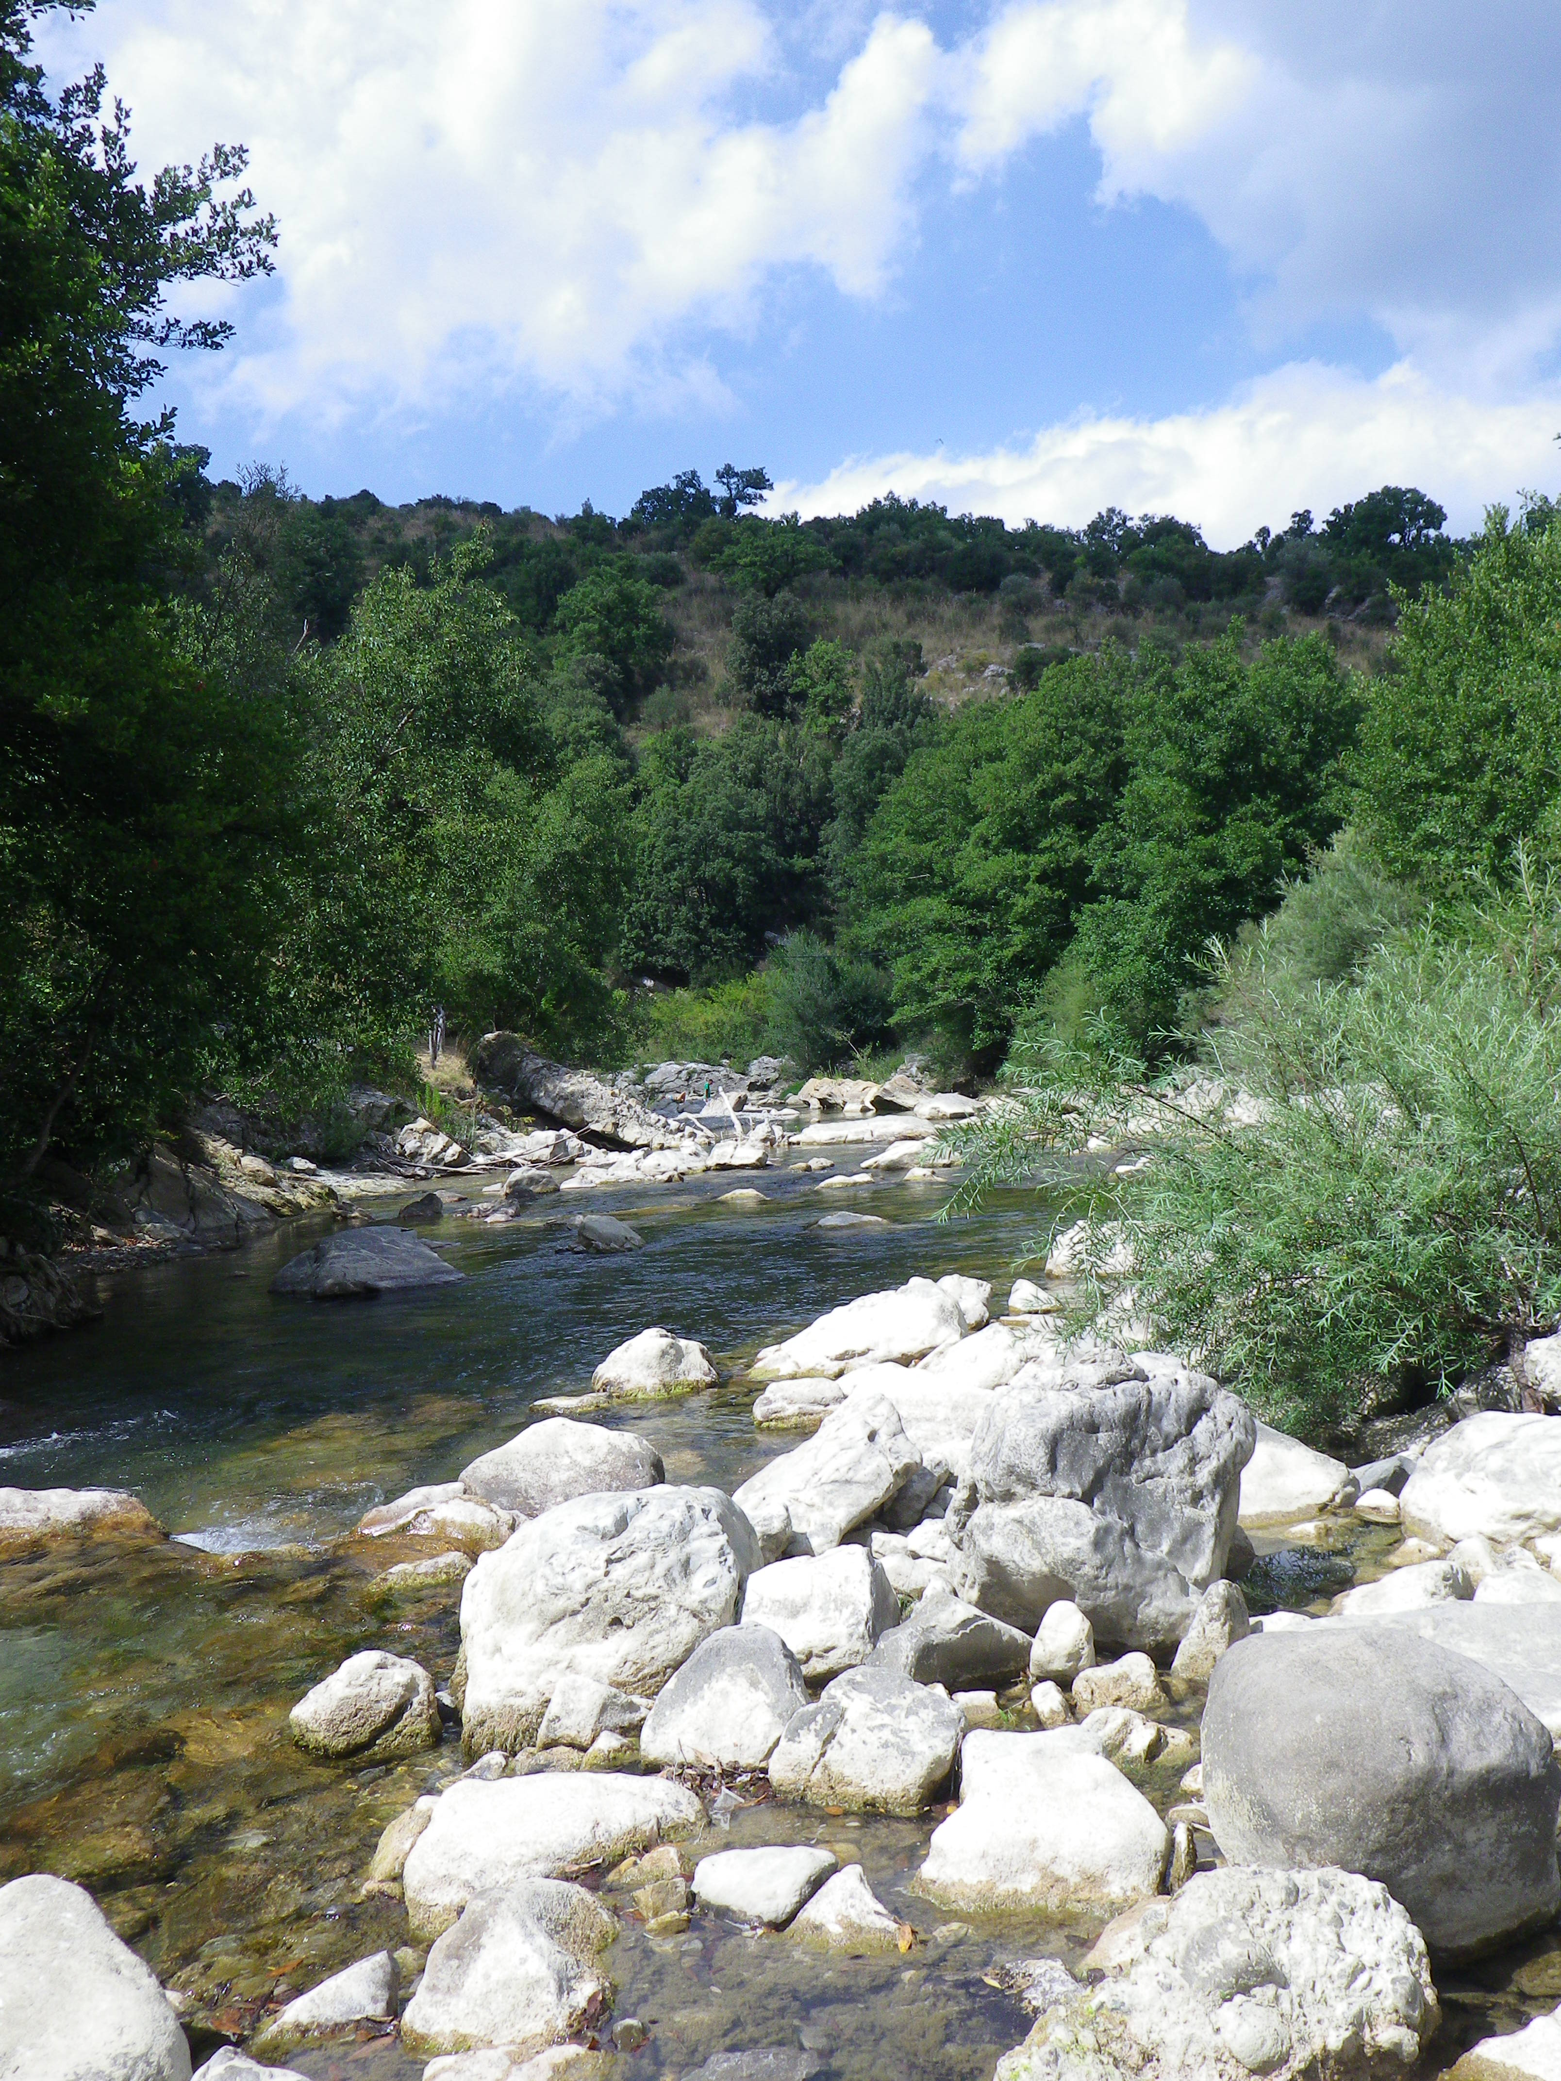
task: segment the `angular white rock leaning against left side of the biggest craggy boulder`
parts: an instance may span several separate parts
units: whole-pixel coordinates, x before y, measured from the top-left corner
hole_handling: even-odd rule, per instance
[[[793,1550],[820,1555],[880,1511],[916,1467],[920,1455],[897,1411],[868,1394],[830,1411],[805,1444],[760,1467],[733,1502],[756,1527],[785,1513]]]

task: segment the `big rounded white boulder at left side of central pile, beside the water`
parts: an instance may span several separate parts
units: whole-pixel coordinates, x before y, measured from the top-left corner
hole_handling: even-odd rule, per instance
[[[533,1742],[564,1675],[656,1696],[735,1623],[758,1565],[747,1517],[718,1488],[574,1496],[522,1523],[460,1598],[468,1750]]]

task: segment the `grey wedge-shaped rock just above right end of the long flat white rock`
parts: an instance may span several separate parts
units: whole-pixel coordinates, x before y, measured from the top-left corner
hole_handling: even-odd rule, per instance
[[[649,1763],[762,1771],[808,1704],[797,1656],[768,1625],[724,1625],[701,1640],[649,1711]]]

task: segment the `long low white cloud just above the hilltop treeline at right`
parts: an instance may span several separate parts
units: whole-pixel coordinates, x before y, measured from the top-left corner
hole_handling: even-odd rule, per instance
[[[1340,485],[1357,495],[1399,483],[1434,491],[1451,524],[1467,531],[1490,499],[1551,474],[1559,427],[1561,387],[1480,404],[1409,364],[1363,381],[1297,362],[1203,412],[1078,416],[1028,447],[978,456],[853,458],[822,483],[776,487],[770,504],[835,514],[893,489],[953,512],[1055,526],[1124,506],[1174,512],[1199,522],[1215,547],[1234,547],[1303,506],[1324,518]]]

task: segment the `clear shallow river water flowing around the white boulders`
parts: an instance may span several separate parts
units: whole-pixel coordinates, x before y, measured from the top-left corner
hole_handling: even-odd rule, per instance
[[[402,1906],[362,1900],[360,1883],[385,1823],[458,1775],[458,1746],[314,1763],[287,1711],[358,1648],[410,1654],[447,1681],[458,1586],[387,1596],[375,1575],[404,1550],[348,1534],[370,1505],[452,1480],[514,1436],[539,1396],[585,1388],[651,1321],[697,1336],[735,1376],[760,1344],[912,1274],[968,1271],[1001,1292],[1037,1222],[1032,1197],[999,1194],[980,1219],[939,1226],[941,1190],[897,1184],[864,1197],[889,1226],[820,1230],[810,1184],[766,1172],[764,1205],[722,1203],[714,1182],[570,1194],[570,1213],[599,1205],[641,1232],[643,1251],[614,1257],[572,1249],[558,1201],[504,1228],[445,1222],[439,1249],[462,1284],[375,1303],[273,1299],[277,1265],[310,1240],[293,1226],[241,1253],[104,1278],[100,1324],[8,1357],[0,1486],[133,1488],[175,1538],[0,1565],[0,1883],[56,1871],[87,1885],[185,2004],[198,2054],[287,1992],[406,1948]],[[591,1421],[649,1436],[672,1482],[731,1490],[795,1442],[756,1434],[753,1392],[724,1378]],[[1263,1569],[1251,1588],[1274,1602],[1330,1594],[1324,1559]],[[1143,1779],[1161,1810],[1178,1775]],[[647,2037],[620,2058],[622,2081],[670,2081],[753,2046],[803,2048],[833,2081],[987,2081],[1030,2021],[1003,1964],[1076,1962],[1099,1925],[939,1912],[912,1892],[935,1821],[764,1802],[712,1827],[695,1854],[822,1842],[862,1862],[914,1948],[841,1960],[716,1917],[647,1937],[624,1915],[608,1956],[614,2019],[639,2019]],[[1528,1946],[1461,1985],[1442,2058],[1503,2014],[1551,2006],[1561,1954]],[[289,2064],[362,2081],[423,2071],[393,2039]]]

